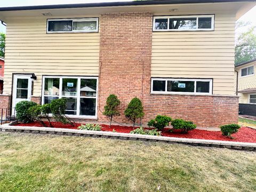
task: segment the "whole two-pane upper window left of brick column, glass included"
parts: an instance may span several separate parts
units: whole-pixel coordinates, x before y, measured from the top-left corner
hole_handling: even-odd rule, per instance
[[[98,32],[99,18],[48,19],[47,33]]]

